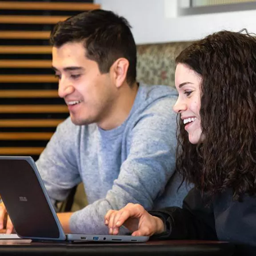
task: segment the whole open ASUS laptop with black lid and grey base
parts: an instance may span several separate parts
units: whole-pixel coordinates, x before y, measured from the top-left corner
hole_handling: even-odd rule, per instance
[[[137,243],[149,239],[148,236],[65,234],[30,156],[0,156],[0,195],[17,235],[24,239]]]

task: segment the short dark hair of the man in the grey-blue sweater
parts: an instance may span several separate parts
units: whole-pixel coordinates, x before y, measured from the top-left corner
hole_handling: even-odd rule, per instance
[[[118,58],[129,61],[127,82],[136,81],[136,44],[128,21],[111,11],[92,10],[60,21],[53,28],[50,43],[60,47],[84,41],[86,57],[97,62],[101,73],[108,73]]]

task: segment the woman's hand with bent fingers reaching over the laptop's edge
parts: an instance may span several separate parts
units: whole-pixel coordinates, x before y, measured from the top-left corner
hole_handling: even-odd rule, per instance
[[[132,236],[152,236],[164,232],[163,221],[150,215],[140,204],[127,204],[119,211],[109,210],[105,215],[105,225],[109,234],[117,235],[124,225],[132,232]]]

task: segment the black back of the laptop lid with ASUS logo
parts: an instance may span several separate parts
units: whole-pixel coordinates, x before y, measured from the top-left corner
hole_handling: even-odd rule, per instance
[[[19,236],[59,238],[59,228],[27,160],[0,158],[0,195]]]

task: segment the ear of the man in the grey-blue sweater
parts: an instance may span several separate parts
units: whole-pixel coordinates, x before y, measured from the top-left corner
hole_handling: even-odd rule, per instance
[[[128,67],[129,61],[125,58],[119,58],[112,64],[110,72],[116,88],[119,88],[126,81]]]

